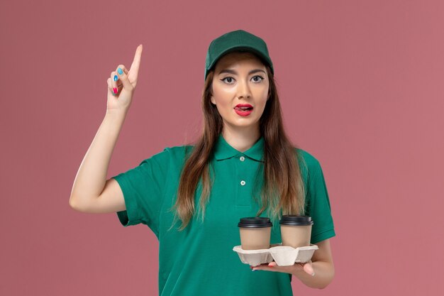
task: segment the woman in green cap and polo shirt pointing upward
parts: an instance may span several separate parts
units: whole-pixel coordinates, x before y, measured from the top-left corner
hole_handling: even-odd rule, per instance
[[[272,60],[255,35],[238,30],[211,42],[204,131],[194,146],[165,148],[106,180],[141,53],[139,45],[130,70],[111,72],[106,116],[74,180],[71,207],[117,212],[123,226],[148,225],[160,242],[160,295],[292,295],[292,275],[309,287],[331,283],[335,231],[321,165],[287,140]],[[311,216],[319,249],[309,263],[270,263],[251,273],[233,252],[237,222],[269,216],[271,243],[279,243],[282,214]]]

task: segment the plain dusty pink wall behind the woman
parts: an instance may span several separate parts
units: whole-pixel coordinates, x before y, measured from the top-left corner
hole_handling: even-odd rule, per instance
[[[106,80],[144,45],[108,176],[194,139],[205,54],[267,42],[285,124],[321,161],[335,280],[295,295],[443,295],[443,1],[0,4],[1,295],[157,295],[158,243],[68,200]],[[162,110],[162,112],[160,111]],[[166,117],[165,110],[170,114]]]

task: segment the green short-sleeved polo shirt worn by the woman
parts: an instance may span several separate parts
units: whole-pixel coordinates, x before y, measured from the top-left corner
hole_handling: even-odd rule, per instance
[[[174,218],[170,208],[177,196],[179,175],[192,146],[165,148],[113,177],[126,203],[126,211],[117,212],[121,224],[145,224],[159,239],[159,295],[292,295],[291,275],[252,272],[233,251],[240,245],[239,219],[255,216],[260,208],[253,196],[263,180],[263,149],[263,138],[242,153],[218,137],[211,157],[214,182],[204,223],[195,215],[184,231],[168,229]],[[314,222],[311,243],[317,243],[335,236],[328,192],[318,160],[298,151],[306,163],[300,168],[306,187],[306,215]],[[199,185],[196,207],[200,193]],[[271,243],[281,243],[279,221],[273,222]]]

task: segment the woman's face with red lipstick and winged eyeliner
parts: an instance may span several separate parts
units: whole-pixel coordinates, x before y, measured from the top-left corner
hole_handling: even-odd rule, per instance
[[[259,128],[268,99],[265,65],[252,53],[228,53],[216,63],[211,103],[223,119],[223,127]]]

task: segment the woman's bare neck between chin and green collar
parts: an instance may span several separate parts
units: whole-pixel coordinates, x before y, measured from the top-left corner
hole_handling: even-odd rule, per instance
[[[231,128],[223,126],[222,136],[225,141],[240,152],[250,149],[260,138],[259,126],[248,128]]]

